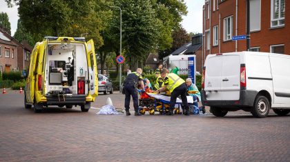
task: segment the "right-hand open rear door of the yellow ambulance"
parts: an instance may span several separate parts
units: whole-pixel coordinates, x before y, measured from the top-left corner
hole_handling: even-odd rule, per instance
[[[87,42],[88,45],[88,77],[90,80],[90,95],[97,96],[97,63],[95,57],[95,45],[93,39]]]

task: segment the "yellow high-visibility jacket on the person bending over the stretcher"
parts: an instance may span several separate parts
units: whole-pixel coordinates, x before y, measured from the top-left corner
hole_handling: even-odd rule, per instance
[[[164,85],[167,85],[167,89],[172,93],[175,88],[185,83],[177,74],[169,73],[164,79]]]

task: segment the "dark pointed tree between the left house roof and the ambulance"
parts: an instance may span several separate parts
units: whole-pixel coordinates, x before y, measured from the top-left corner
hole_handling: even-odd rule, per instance
[[[21,19],[18,19],[17,30],[14,33],[13,37],[19,42],[28,41],[29,45],[31,45],[32,47],[35,45],[35,41],[33,40],[32,35],[23,27]]]

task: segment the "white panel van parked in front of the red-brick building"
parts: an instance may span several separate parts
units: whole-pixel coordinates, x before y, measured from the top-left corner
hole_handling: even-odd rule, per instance
[[[244,110],[267,117],[290,112],[290,56],[266,52],[209,54],[202,75],[202,104],[216,117]]]

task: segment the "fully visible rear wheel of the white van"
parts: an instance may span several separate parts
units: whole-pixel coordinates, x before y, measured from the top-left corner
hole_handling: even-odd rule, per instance
[[[255,105],[251,110],[253,117],[264,118],[267,117],[270,110],[270,103],[264,96],[258,96],[255,99]]]

